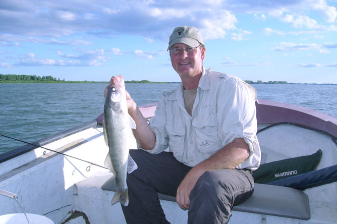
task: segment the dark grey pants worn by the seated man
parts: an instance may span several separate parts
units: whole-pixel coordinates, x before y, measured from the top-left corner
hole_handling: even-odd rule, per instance
[[[136,149],[130,150],[130,155],[138,169],[127,176],[129,205],[122,205],[127,223],[170,223],[157,192],[176,196],[179,184],[192,167],[179,162],[171,152],[153,155]],[[205,172],[191,191],[188,223],[226,223],[231,208],[246,201],[253,190],[254,180],[248,170]]]

